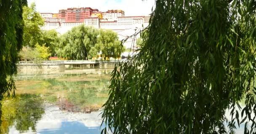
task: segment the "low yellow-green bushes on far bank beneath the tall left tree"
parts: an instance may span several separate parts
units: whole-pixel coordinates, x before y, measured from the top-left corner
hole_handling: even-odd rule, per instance
[[[51,56],[50,47],[46,47],[45,44],[40,46],[35,44],[35,48],[24,46],[19,53],[21,61],[42,61],[48,59]]]

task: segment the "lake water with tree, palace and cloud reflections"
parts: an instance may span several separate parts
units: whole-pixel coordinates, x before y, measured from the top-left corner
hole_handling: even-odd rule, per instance
[[[19,72],[16,98],[3,101],[0,129],[4,134],[100,134],[111,72]]]

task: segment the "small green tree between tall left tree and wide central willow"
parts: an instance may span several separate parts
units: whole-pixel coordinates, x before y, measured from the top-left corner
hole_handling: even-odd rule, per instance
[[[56,49],[59,41],[59,35],[55,30],[42,31],[42,39],[40,44],[45,44],[46,47],[50,48],[51,56],[56,55]]]

